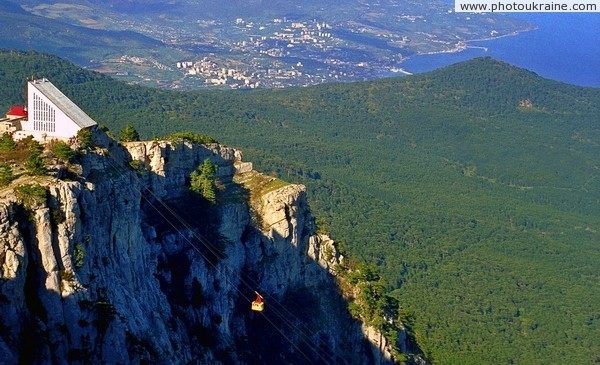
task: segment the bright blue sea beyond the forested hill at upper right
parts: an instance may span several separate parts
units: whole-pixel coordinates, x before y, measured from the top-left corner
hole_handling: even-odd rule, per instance
[[[475,57],[491,56],[536,74],[579,86],[600,87],[600,13],[510,13],[535,30],[469,42],[465,51],[412,57],[410,73],[431,71]]]

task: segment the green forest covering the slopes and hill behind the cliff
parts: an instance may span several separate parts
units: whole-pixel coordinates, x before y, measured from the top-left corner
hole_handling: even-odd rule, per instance
[[[47,77],[113,133],[192,131],[305,184],[435,364],[600,362],[600,89],[491,58],[257,91],[127,85],[0,52],[0,108]]]

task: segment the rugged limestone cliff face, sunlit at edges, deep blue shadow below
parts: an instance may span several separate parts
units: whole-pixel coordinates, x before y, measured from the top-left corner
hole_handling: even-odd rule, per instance
[[[0,363],[389,362],[338,294],[303,186],[216,144],[109,145],[74,181],[40,178],[46,203],[0,191]],[[217,208],[186,193],[206,158]]]

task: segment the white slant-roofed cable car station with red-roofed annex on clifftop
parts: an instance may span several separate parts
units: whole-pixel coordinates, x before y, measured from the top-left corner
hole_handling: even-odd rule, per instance
[[[10,125],[10,126],[9,126]],[[97,123],[47,79],[27,82],[27,109],[13,106],[0,129],[15,140],[33,136],[45,142],[68,140]]]

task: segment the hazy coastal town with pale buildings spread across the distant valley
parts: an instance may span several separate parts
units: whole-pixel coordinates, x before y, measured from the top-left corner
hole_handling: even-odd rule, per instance
[[[227,17],[194,15],[188,5],[181,9],[189,13],[177,22],[168,16],[107,15],[118,29],[159,43],[137,54],[127,50],[92,60],[89,68],[132,84],[170,89],[309,86],[409,74],[404,66],[409,58],[460,52],[472,47],[471,40],[529,29],[505,17],[455,14],[443,4],[360,2],[357,9],[318,8],[313,15],[271,9]]]

